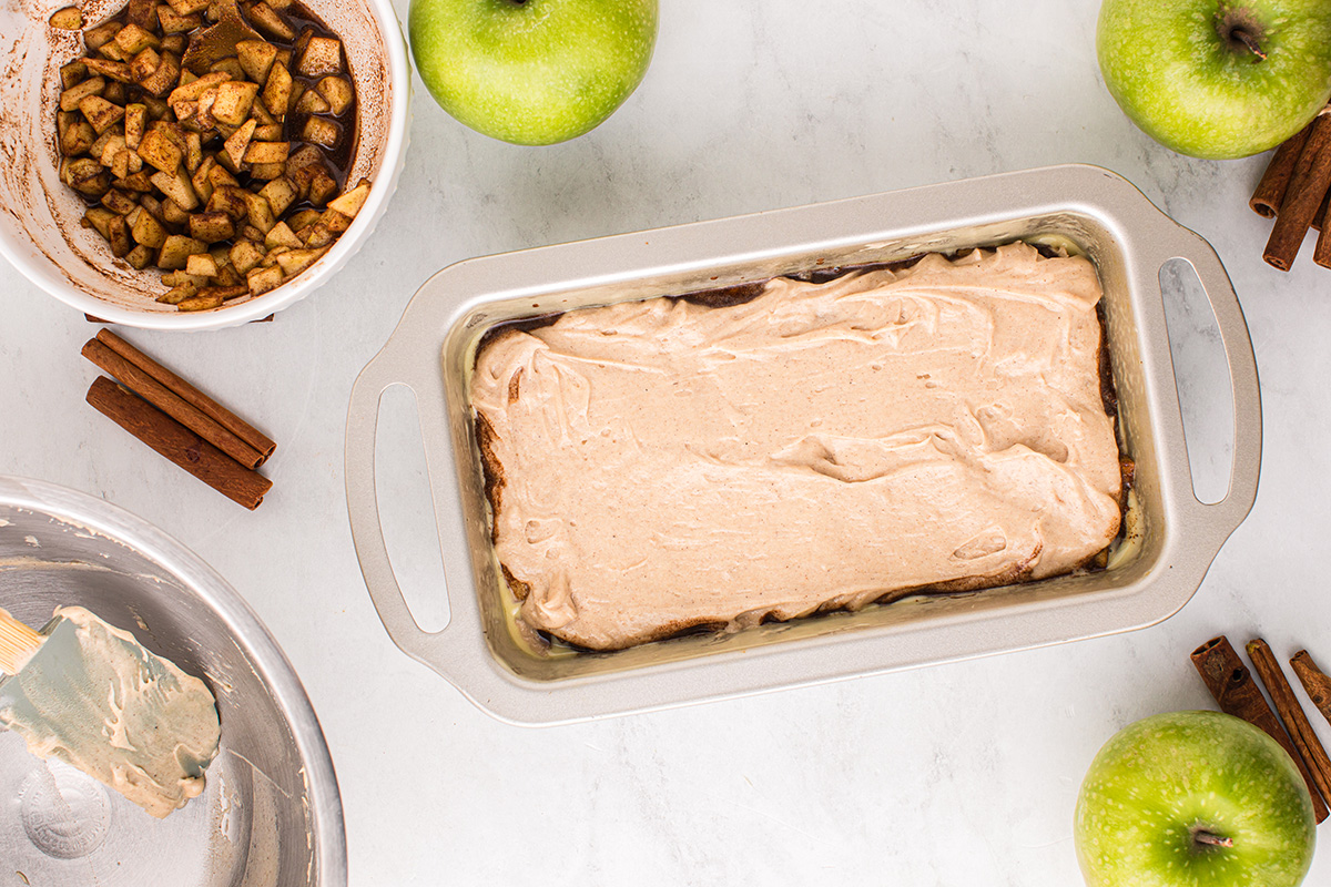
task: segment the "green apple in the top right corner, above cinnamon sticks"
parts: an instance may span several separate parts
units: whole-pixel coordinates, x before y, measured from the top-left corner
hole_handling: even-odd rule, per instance
[[[1147,136],[1193,157],[1248,157],[1331,97],[1331,3],[1105,0],[1095,52]]]

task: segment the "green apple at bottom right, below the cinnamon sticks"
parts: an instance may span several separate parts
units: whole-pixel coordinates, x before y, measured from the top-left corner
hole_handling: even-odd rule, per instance
[[[1294,887],[1315,827],[1303,777],[1275,739],[1219,711],[1174,711],[1105,743],[1073,836],[1090,887]]]

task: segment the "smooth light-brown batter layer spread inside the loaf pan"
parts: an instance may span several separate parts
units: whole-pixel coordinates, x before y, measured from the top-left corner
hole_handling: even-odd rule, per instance
[[[519,618],[608,650],[1075,569],[1121,519],[1099,295],[1014,243],[492,335],[471,396]]]

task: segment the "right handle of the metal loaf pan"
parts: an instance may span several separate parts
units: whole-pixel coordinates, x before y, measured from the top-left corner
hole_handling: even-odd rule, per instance
[[[1169,234],[1162,235],[1157,246],[1163,250],[1161,258],[1150,265],[1157,290],[1159,269],[1170,259],[1182,259],[1193,267],[1215,314],[1230,370],[1234,449],[1230,485],[1225,499],[1213,504],[1198,500],[1193,489],[1191,465],[1179,484],[1183,488],[1177,491],[1181,505],[1191,512],[1189,528],[1194,532],[1206,531],[1209,535],[1214,531],[1218,536],[1214,543],[1218,551],[1256,501],[1258,476],[1262,469],[1262,394],[1258,387],[1256,358],[1252,354],[1252,339],[1234,283],[1206,238],[1181,225],[1170,223]],[[1182,419],[1179,419],[1179,435],[1182,436]],[[1187,452],[1186,445],[1181,449]]]

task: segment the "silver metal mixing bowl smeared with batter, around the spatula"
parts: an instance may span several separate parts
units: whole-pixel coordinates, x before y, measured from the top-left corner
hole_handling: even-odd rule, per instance
[[[0,476],[0,606],[41,626],[69,604],[202,677],[217,697],[221,750],[204,794],[158,821],[0,730],[0,886],[345,887],[333,761],[254,612],[133,515]]]

